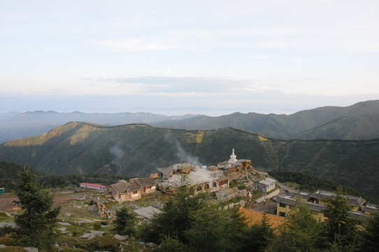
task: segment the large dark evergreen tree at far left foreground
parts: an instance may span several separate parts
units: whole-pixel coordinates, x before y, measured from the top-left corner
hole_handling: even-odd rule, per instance
[[[47,246],[53,242],[52,229],[57,223],[60,207],[52,209],[53,197],[36,181],[29,168],[18,174],[15,195],[22,213],[15,216],[17,238],[21,244]]]

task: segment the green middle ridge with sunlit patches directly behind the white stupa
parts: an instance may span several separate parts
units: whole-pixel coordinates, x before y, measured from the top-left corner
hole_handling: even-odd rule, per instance
[[[229,159],[232,148],[238,159],[252,160],[259,170],[304,172],[368,195],[377,193],[379,139],[285,141],[231,127],[190,131],[76,122],[38,137],[1,144],[0,160],[50,174],[148,176],[157,172],[157,167],[178,162],[216,165]]]

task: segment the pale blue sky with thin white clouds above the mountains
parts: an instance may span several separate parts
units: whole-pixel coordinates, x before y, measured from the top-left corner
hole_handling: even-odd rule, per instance
[[[294,113],[379,99],[379,1],[0,0],[0,112]]]

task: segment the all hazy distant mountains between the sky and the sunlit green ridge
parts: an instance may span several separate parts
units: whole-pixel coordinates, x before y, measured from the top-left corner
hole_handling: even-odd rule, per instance
[[[0,143],[43,134],[71,121],[101,125],[146,123],[182,130],[217,130],[236,127],[278,139],[379,138],[379,100],[352,106],[325,106],[292,115],[231,113],[210,117],[199,115],[162,116],[153,113],[58,113],[34,111],[0,113]]]

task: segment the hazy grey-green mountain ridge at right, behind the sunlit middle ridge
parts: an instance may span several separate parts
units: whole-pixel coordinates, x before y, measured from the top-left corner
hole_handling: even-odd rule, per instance
[[[152,125],[184,130],[237,127],[278,139],[376,139],[379,138],[379,100],[359,102],[347,107],[325,106],[288,116],[231,113],[217,117],[196,116]]]

